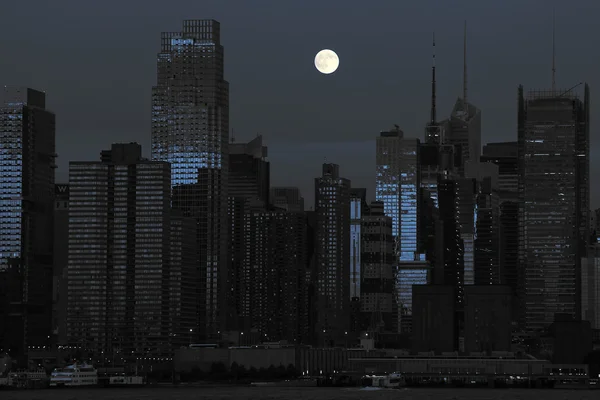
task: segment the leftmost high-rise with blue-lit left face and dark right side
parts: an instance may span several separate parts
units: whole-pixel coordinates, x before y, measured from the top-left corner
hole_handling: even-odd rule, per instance
[[[0,89],[0,352],[50,344],[55,117],[46,94]]]

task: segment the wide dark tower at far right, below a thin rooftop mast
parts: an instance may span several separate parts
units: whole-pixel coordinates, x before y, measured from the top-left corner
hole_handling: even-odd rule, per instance
[[[589,241],[589,101],[569,90],[519,87],[519,229],[524,327],[581,315]]]

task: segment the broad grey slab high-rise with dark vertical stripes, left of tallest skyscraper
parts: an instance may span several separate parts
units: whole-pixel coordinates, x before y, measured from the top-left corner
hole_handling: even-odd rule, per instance
[[[110,358],[172,354],[197,329],[195,224],[171,224],[168,163],[142,159],[137,143],[102,159],[69,164],[69,344]]]

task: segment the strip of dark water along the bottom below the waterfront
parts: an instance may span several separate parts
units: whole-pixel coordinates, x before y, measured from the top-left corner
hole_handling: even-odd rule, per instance
[[[0,391],[2,400],[598,400],[600,391],[535,389],[157,388]]]

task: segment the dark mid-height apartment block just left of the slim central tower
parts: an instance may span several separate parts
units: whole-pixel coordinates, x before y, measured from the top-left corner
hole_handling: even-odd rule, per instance
[[[245,251],[240,274],[240,330],[262,341],[304,341],[306,274],[304,214],[261,202],[244,215]]]

